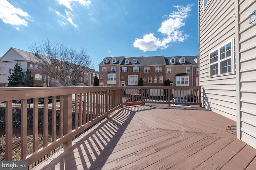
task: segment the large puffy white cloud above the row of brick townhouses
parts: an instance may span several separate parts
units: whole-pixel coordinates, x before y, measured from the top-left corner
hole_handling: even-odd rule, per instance
[[[167,19],[162,21],[161,27],[158,29],[158,32],[164,36],[163,39],[156,38],[153,33],[145,34],[143,39],[136,38],[133,46],[144,52],[156,51],[157,49],[170,47],[168,44],[171,42],[183,42],[186,40],[189,35],[180,30],[180,28],[185,25],[184,19],[189,16],[188,12],[192,10],[191,7],[193,5],[187,5],[186,7],[174,6],[177,11],[163,16],[164,18],[167,17]]]

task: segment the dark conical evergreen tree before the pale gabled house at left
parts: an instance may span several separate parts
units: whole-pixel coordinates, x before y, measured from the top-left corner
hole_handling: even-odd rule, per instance
[[[14,64],[14,68],[10,76],[8,76],[8,87],[19,87],[23,84],[24,72],[18,63]]]

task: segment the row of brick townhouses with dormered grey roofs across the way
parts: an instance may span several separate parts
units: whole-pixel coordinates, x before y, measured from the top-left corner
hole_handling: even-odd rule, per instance
[[[199,80],[198,56],[107,57],[99,68],[100,86],[137,86],[140,78],[144,86],[164,86],[167,79],[172,86],[196,86]]]

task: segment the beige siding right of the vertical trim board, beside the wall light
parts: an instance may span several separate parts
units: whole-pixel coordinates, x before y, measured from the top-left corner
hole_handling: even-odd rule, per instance
[[[256,148],[256,23],[248,16],[256,10],[255,0],[240,0],[240,135],[241,140]]]

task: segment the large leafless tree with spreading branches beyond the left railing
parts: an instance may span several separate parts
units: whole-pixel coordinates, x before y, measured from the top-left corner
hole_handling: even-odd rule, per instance
[[[90,55],[83,48],[76,51],[49,39],[32,43],[30,51],[34,53],[33,57],[42,63],[41,71],[58,80],[63,86],[74,85],[88,72],[86,68],[92,67]]]

